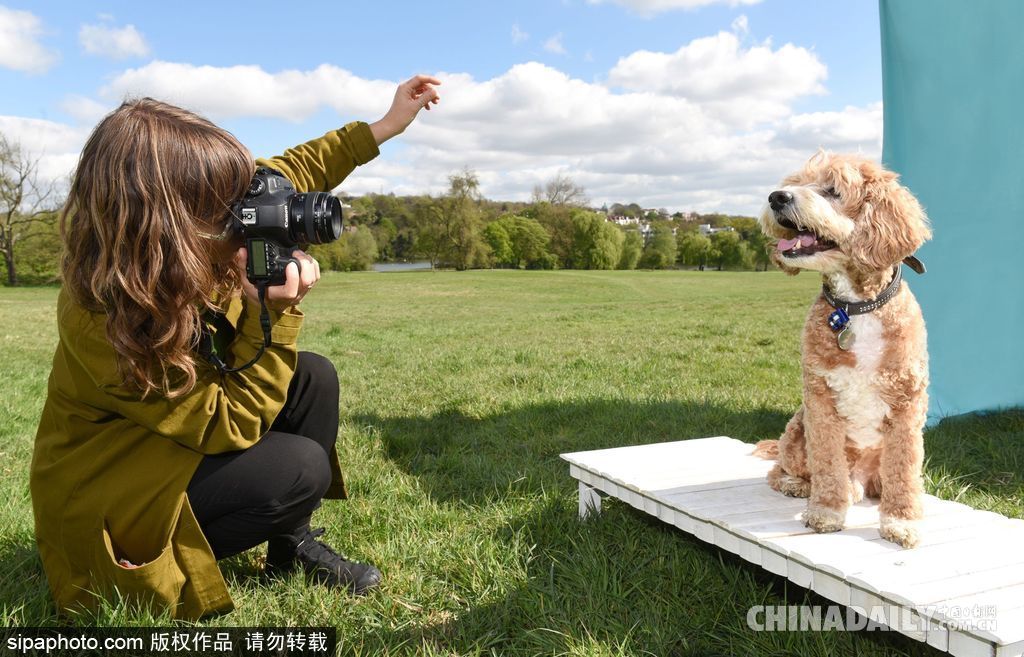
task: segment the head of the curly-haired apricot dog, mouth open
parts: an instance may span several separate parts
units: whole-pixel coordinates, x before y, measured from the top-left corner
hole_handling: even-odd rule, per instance
[[[819,151],[768,194],[761,228],[777,240],[787,273],[867,273],[892,268],[932,236],[928,218],[896,174],[856,156]]]

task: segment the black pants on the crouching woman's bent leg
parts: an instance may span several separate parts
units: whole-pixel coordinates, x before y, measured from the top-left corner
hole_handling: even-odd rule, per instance
[[[331,484],[337,439],[338,373],[327,358],[300,352],[270,431],[248,449],[204,456],[188,483],[188,503],[216,558],[302,534]]]

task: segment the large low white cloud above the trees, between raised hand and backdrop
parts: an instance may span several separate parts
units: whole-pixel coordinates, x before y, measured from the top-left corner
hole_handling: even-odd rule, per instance
[[[878,103],[781,118],[762,107],[736,120],[703,101],[616,92],[537,62],[483,81],[439,76],[438,112],[401,137],[400,154],[353,174],[346,191],[388,189],[382,181],[392,180],[399,193],[440,193],[447,174],[468,165],[492,199],[526,200],[535,184],[563,172],[597,205],[755,213],[766,190],[818,146],[874,158],[881,150]]]

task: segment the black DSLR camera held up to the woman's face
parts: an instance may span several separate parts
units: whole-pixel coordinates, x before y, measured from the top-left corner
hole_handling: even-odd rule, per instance
[[[341,202],[329,193],[296,193],[281,172],[256,169],[245,198],[231,208],[241,224],[249,258],[246,276],[253,284],[285,282],[292,254],[305,245],[321,245],[341,236]]]

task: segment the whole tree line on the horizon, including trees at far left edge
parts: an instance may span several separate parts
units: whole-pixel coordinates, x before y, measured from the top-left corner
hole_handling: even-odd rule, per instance
[[[340,239],[309,247],[326,269],[370,269],[375,262],[429,261],[454,269],[753,269],[769,265],[766,240],[751,217],[644,214],[636,204],[595,211],[584,188],[559,175],[529,202],[482,196],[470,170],[449,177],[439,196],[367,194],[346,199]],[[0,135],[0,254],[7,286],[57,279],[62,196],[42,184],[38,160]],[[609,214],[636,217],[620,226]],[[701,234],[698,224],[731,228]]]

